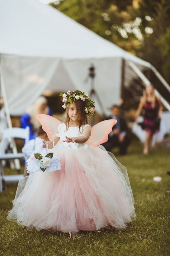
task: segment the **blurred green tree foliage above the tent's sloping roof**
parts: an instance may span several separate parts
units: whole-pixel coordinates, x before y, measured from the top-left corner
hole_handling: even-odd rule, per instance
[[[58,0],[56,3],[52,6],[67,16],[150,62],[170,83],[170,0]]]

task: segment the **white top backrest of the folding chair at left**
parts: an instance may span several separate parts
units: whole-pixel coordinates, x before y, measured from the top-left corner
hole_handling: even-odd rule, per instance
[[[26,128],[6,128],[3,130],[3,139],[21,138],[25,139],[25,144],[29,141],[29,127]]]

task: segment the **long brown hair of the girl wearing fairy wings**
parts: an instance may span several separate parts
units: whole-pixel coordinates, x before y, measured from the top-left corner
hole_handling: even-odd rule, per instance
[[[75,105],[76,105],[76,110],[77,110],[77,123],[79,123],[79,131],[80,131],[80,127],[82,125],[88,124],[88,118],[86,117],[86,112],[85,112],[85,107],[86,107],[86,103],[84,101],[81,100],[75,100],[74,101]],[[70,118],[69,118],[69,108],[70,108],[70,104],[66,107],[66,116],[65,116],[65,121],[64,123],[66,124],[66,131],[69,128],[69,123],[70,123]]]

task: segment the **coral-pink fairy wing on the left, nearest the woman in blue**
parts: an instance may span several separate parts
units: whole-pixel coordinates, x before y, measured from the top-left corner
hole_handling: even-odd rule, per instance
[[[44,114],[38,114],[36,117],[41,123],[43,130],[47,133],[49,140],[51,140],[53,134],[56,132],[58,125],[62,122],[52,116]]]

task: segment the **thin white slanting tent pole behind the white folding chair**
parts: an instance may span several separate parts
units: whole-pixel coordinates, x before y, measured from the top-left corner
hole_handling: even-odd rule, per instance
[[[11,118],[10,118],[10,113],[9,113],[9,107],[8,107],[8,101],[6,98],[6,91],[5,91],[5,85],[4,85],[4,79],[3,79],[3,74],[2,74],[2,69],[1,69],[1,63],[0,63],[0,84],[1,84],[1,92],[2,92],[2,96],[3,96],[3,101],[4,101],[4,108],[5,108],[5,114],[6,114],[6,120],[8,123],[8,127],[12,128],[12,122],[11,122]],[[16,143],[15,140],[11,139],[12,141],[12,145],[13,145],[13,153],[17,154],[17,148],[16,148]],[[15,163],[15,167],[17,170],[20,169],[20,162],[19,159],[14,159],[14,163]]]

